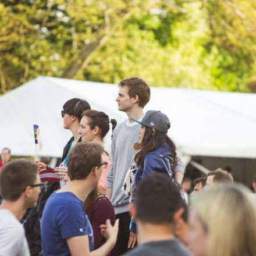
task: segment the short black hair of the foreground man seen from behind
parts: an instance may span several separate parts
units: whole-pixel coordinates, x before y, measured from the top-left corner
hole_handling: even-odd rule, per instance
[[[134,198],[137,218],[151,224],[170,224],[183,207],[179,189],[166,175],[153,173],[138,185]]]

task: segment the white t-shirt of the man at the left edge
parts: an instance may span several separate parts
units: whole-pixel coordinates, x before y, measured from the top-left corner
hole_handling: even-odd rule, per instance
[[[8,209],[0,209],[0,255],[30,255],[23,226]]]

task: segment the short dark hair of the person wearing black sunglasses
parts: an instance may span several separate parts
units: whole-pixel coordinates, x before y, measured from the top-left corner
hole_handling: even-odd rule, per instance
[[[69,99],[69,101],[63,105],[63,110],[69,115],[76,116],[79,122],[82,119],[81,113],[86,109],[91,109],[90,104],[84,99],[79,98]]]

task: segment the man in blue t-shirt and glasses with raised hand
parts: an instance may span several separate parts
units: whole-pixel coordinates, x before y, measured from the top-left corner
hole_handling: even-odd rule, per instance
[[[93,229],[84,212],[88,194],[97,189],[104,150],[91,142],[76,144],[69,152],[69,182],[49,197],[42,214],[42,254],[107,255],[115,246],[118,221],[101,225],[106,243],[94,250]]]

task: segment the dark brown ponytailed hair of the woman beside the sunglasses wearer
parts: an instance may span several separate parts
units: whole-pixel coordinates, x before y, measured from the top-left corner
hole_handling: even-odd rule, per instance
[[[86,110],[82,113],[82,116],[86,116],[89,119],[91,129],[94,129],[95,126],[99,127],[99,135],[102,139],[109,131],[109,122],[112,123],[112,131],[116,127],[116,119],[109,120],[108,115],[101,111]]]

